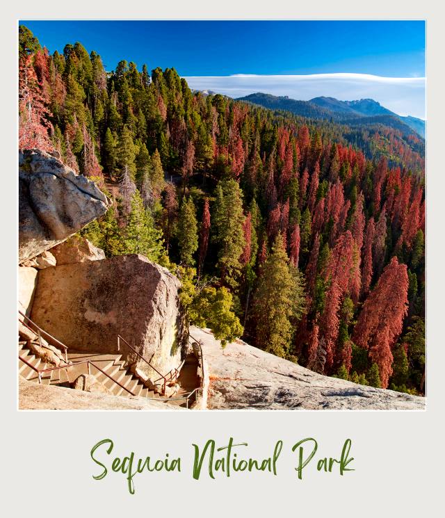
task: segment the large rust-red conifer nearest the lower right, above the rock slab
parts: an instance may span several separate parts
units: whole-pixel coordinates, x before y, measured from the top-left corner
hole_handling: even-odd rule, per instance
[[[378,364],[384,389],[392,374],[391,348],[401,334],[407,314],[407,292],[407,266],[393,257],[364,302],[354,329],[353,341],[369,350],[370,359]]]

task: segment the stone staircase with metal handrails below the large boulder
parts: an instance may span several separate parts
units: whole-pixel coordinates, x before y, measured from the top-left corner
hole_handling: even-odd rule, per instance
[[[19,356],[39,370],[54,367],[54,365],[42,362],[42,359],[35,356],[24,341],[19,341]],[[77,364],[77,362],[90,360],[90,362],[93,362],[99,369],[102,369],[102,371],[113,378],[113,380],[111,380],[108,376],[104,375],[104,373],[100,372],[99,369],[95,369],[95,366],[90,365],[90,373],[95,375],[95,378],[99,382],[102,382],[102,385],[104,385],[111,394],[115,396],[131,396],[131,394],[127,392],[127,390],[129,390],[135,396],[142,398],[160,397],[159,394],[145,387],[131,371],[124,367],[122,355],[71,352],[68,353],[67,356],[68,361],[72,362],[72,365],[62,369],[55,369],[48,373],[42,373],[42,384],[70,387],[72,382],[74,382],[79,375],[88,373],[88,364]],[[19,374],[26,378],[26,380],[38,382],[38,373],[26,365],[26,363],[22,362],[21,359],[19,359]],[[127,390],[120,387],[116,382],[119,382],[120,385]]]

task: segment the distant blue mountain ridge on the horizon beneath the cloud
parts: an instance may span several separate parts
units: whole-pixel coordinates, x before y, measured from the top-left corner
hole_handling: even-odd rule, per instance
[[[335,122],[343,122],[351,126],[384,124],[398,129],[403,134],[416,133],[417,136],[425,138],[426,125],[424,120],[410,115],[407,117],[397,115],[373,99],[339,101],[334,97],[314,97],[309,101],[298,101],[289,99],[287,96],[277,97],[257,92],[245,97],[238,97],[236,100],[259,104],[264,108],[273,110],[290,111],[307,118],[332,119]]]

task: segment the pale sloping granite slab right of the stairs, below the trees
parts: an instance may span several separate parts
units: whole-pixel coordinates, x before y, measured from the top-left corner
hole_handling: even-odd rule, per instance
[[[425,398],[323,376],[239,340],[222,349],[191,327],[209,365],[209,409],[424,410]]]

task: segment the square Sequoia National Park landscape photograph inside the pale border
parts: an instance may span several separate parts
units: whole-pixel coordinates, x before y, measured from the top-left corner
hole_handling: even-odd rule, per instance
[[[426,410],[426,20],[16,30],[20,413]]]

